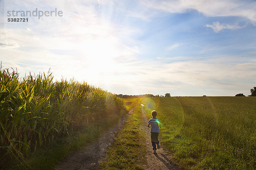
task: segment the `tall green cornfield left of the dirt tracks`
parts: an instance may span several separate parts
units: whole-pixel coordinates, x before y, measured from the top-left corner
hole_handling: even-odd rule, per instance
[[[53,82],[52,73],[19,78],[0,68],[0,167],[123,108],[122,99],[86,82]]]

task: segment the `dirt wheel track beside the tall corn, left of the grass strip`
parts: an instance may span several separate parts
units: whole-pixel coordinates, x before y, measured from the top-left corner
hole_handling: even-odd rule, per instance
[[[120,122],[104,133],[98,141],[90,144],[84,150],[72,153],[58,164],[55,170],[95,170],[99,167],[99,164],[105,159],[106,150],[108,150],[115,139],[117,132],[136,107],[132,108],[127,115],[123,116]]]

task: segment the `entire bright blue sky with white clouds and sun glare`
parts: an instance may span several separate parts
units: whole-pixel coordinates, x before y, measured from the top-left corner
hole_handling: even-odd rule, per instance
[[[18,17],[28,21],[8,22]],[[256,1],[0,0],[0,61],[113,94],[247,96]]]

